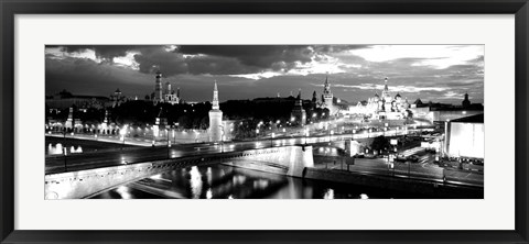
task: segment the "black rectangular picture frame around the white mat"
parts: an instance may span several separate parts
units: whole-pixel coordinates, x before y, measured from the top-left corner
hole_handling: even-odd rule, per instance
[[[527,0],[1,0],[1,243],[528,243]],[[514,231],[19,231],[14,223],[15,14],[515,14],[516,230]],[[494,211],[494,210],[490,210]],[[494,220],[484,220],[494,221]]]

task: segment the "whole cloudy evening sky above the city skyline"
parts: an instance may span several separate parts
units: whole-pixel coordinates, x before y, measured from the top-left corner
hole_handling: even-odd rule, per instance
[[[357,102],[389,89],[410,102],[461,104],[484,98],[484,45],[48,45],[46,95],[109,96],[117,88],[143,98],[161,70],[186,101],[319,98],[328,73],[335,97]]]

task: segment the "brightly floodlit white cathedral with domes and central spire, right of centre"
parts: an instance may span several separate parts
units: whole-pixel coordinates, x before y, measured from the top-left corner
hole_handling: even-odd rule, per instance
[[[375,92],[375,96],[367,101],[352,106],[349,113],[363,114],[365,118],[375,120],[399,120],[408,115],[407,110],[409,108],[408,99],[403,99],[400,93],[397,92],[395,97],[391,96],[388,88],[388,78],[386,77],[381,95],[379,96]]]

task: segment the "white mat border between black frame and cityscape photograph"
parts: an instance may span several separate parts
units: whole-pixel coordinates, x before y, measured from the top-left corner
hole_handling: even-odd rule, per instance
[[[17,230],[514,230],[514,15],[17,15]],[[485,200],[60,200],[45,44],[485,44]]]

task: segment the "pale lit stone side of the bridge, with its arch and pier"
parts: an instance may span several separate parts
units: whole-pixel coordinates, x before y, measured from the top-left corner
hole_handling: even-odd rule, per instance
[[[302,144],[190,155],[129,165],[47,174],[44,177],[45,199],[89,198],[119,185],[163,171],[219,163],[293,177],[303,177],[304,169],[314,166],[312,146]]]

